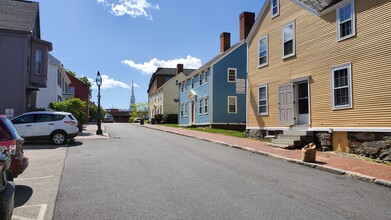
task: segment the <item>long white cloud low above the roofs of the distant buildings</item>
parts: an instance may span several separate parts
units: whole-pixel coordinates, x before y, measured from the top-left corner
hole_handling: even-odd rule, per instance
[[[185,69],[197,69],[202,66],[200,59],[190,55],[186,58],[175,58],[173,60],[158,60],[157,58],[153,58],[149,62],[144,63],[135,63],[133,60],[123,60],[121,63],[142,72],[144,75],[153,74],[158,67],[176,68],[178,63],[183,64],[183,68]]]

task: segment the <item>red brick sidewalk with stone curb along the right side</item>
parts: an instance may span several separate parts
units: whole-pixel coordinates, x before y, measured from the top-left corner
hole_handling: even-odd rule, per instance
[[[391,166],[372,161],[365,161],[349,155],[318,151],[316,152],[316,163],[307,163],[302,161],[301,150],[274,148],[267,146],[267,143],[265,142],[257,140],[236,138],[184,128],[172,128],[162,125],[145,124],[140,126],[207,140],[264,156],[391,187]]]

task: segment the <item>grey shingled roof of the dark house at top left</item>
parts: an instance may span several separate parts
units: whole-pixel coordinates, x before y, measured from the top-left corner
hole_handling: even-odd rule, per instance
[[[0,28],[26,32],[33,31],[39,13],[38,10],[38,2],[1,0]]]

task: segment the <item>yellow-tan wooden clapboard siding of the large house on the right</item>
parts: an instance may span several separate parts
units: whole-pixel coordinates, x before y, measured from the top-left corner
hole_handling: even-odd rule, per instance
[[[391,127],[391,2],[355,0],[356,36],[337,42],[336,12],[317,17],[289,0],[267,10],[249,42],[248,127],[279,127],[278,85],[310,77],[312,127]],[[282,60],[282,27],[295,21],[296,56]],[[269,36],[269,65],[258,68],[258,39]],[[332,110],[331,67],[351,63],[353,108]],[[259,116],[258,85],[269,115]]]

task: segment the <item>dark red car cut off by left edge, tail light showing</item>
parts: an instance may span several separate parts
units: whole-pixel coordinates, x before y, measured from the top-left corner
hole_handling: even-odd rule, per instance
[[[29,159],[24,156],[23,143],[24,139],[12,122],[5,115],[0,115],[0,150],[6,147],[11,154],[11,165],[7,172],[11,181],[22,174],[29,165]]]

